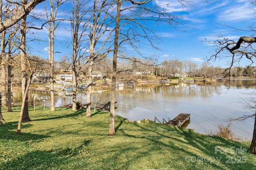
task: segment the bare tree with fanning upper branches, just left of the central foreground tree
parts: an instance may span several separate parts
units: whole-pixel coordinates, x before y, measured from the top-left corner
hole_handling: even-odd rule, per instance
[[[90,26],[89,26],[89,61],[88,61],[88,90],[87,90],[87,109],[86,117],[91,117],[91,92],[92,92],[92,67],[96,60],[102,59],[102,56],[107,55],[110,52],[112,40],[110,36],[114,31],[111,28],[113,1],[107,0],[94,0],[92,10],[88,10],[90,14]],[[103,40],[101,40],[103,39]],[[103,57],[104,58],[104,57]],[[99,62],[99,61],[98,61]]]

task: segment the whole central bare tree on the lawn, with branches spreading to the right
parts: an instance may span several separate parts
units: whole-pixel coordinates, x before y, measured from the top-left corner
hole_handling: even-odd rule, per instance
[[[156,44],[159,37],[146,27],[145,21],[150,22],[165,22],[171,26],[176,26],[182,24],[177,22],[178,18],[166,12],[164,6],[172,5],[167,2],[163,6],[148,6],[152,0],[116,0],[116,17],[115,17],[115,36],[114,36],[114,54],[113,54],[113,65],[112,65],[112,85],[111,85],[111,101],[110,101],[110,129],[108,135],[115,135],[114,128],[114,103],[115,103],[115,83],[116,83],[116,65],[117,57],[120,53],[121,44],[127,43],[132,46],[133,49],[138,52],[139,55],[143,56],[138,50],[138,38],[145,38],[148,40],[149,45],[155,49],[159,49]],[[184,2],[189,1],[179,1],[182,5]],[[122,6],[122,8],[121,8]],[[121,13],[122,12],[122,13]],[[140,31],[141,32],[140,32]],[[142,34],[143,33],[143,34]],[[151,35],[149,35],[151,34]],[[152,36],[153,35],[153,36]],[[118,42],[119,40],[119,42]],[[156,43],[156,44],[155,44]],[[137,46],[138,45],[138,46]],[[145,57],[145,56],[144,56]],[[150,57],[148,57],[150,59]]]

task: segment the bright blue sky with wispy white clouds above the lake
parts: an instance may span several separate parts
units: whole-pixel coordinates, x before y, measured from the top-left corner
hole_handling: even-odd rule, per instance
[[[172,2],[166,6],[166,10],[176,16],[183,16],[184,19],[180,20],[185,22],[187,27],[179,27],[179,30],[165,24],[154,26],[157,34],[163,36],[162,43],[158,47],[162,51],[153,50],[152,47],[144,47],[142,52],[144,55],[158,56],[160,61],[178,58],[180,61],[191,60],[199,66],[206,61],[205,57],[212,55],[215,49],[207,43],[203,43],[205,39],[214,41],[218,38],[218,34],[224,37],[238,40],[240,36],[252,36],[253,32],[235,31],[232,28],[241,30],[248,30],[248,26],[252,26],[256,22],[256,8],[248,2],[248,0],[194,0],[193,6],[182,8],[177,0],[155,0],[154,3],[161,5],[166,2]],[[40,4],[35,8],[36,12],[44,13],[43,5]],[[224,26],[227,25],[227,26]],[[152,26],[148,25],[148,28]],[[63,55],[70,56],[72,49],[66,46],[66,40],[70,37],[64,27],[56,31],[55,49],[61,51],[54,55],[55,60],[59,60]],[[39,30],[36,32],[38,38],[47,39],[47,31]],[[48,57],[47,54],[48,43],[36,43],[33,45],[35,51],[39,51],[40,55],[44,58]],[[128,52],[128,51],[127,51]],[[35,52],[36,53],[36,52]],[[129,51],[128,53],[132,53]],[[132,54],[130,54],[132,55]],[[134,56],[137,56],[134,53]],[[213,66],[228,67],[228,58],[210,61]],[[241,66],[248,64],[246,60],[241,61]]]

